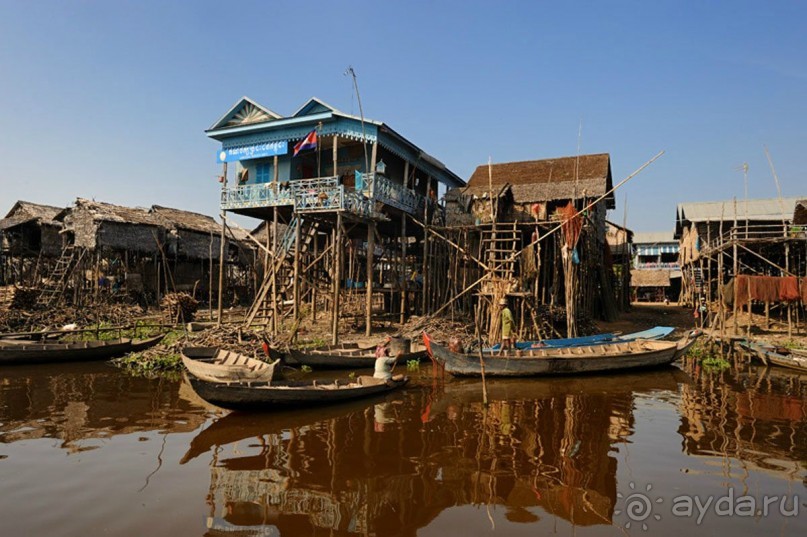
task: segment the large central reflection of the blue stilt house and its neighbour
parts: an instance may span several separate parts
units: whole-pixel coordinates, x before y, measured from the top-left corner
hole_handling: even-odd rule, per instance
[[[232,414],[184,461],[211,457],[211,529],[281,535],[414,535],[452,506],[499,505],[611,524],[617,461],[636,393],[669,391],[677,369],[583,379],[452,381],[397,399],[268,416]],[[328,415],[331,414],[331,415]]]

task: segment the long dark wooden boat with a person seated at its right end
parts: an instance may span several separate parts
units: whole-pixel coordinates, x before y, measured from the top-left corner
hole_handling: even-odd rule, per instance
[[[328,405],[390,392],[406,385],[409,378],[396,375],[390,380],[360,376],[355,380],[309,380],[272,383],[208,382],[186,374],[193,391],[210,404],[230,410],[275,410]]]

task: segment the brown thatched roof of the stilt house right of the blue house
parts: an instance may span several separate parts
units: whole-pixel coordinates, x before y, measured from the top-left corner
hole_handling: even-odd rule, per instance
[[[504,162],[476,168],[463,194],[482,197],[493,185],[494,191],[510,185],[516,203],[558,201],[575,196],[601,196],[612,187],[611,157],[608,153],[580,155],[522,162]],[[499,188],[497,188],[499,187]],[[606,198],[609,209],[614,196]]]

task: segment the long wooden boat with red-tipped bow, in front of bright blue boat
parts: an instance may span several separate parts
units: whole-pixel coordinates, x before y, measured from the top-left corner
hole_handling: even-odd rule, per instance
[[[575,375],[657,367],[674,362],[695,343],[700,331],[690,332],[678,341],[630,341],[609,345],[588,345],[559,349],[483,353],[485,375],[491,377],[530,377]],[[480,376],[478,353],[457,353],[436,343],[427,333],[423,342],[429,355],[455,376]]]

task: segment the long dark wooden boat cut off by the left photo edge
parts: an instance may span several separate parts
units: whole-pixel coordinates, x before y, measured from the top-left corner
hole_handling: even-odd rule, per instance
[[[0,364],[80,362],[107,360],[129,352],[142,351],[159,343],[164,335],[148,339],[112,339],[69,343],[0,343]]]

